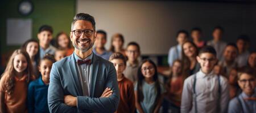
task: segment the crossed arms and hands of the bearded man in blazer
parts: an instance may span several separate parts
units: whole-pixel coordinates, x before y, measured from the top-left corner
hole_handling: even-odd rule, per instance
[[[55,64],[52,66],[48,89],[48,106],[50,112],[114,112],[119,103],[119,89],[114,66],[110,66],[106,89],[101,97],[64,95],[59,73]],[[110,88],[110,89],[108,89]],[[97,90],[97,88],[96,88]]]

